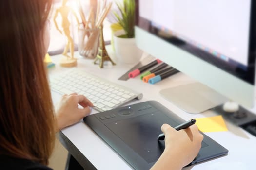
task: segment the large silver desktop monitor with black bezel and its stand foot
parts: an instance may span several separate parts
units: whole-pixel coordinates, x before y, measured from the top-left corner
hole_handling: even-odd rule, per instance
[[[163,97],[190,113],[227,99],[253,106],[255,1],[138,0],[137,5],[137,46],[199,82],[164,89]]]

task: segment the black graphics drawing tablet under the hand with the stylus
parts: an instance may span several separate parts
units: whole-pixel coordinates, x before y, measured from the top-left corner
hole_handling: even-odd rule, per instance
[[[83,120],[136,170],[150,169],[163,152],[164,141],[157,140],[161,125],[175,127],[184,122],[156,101],[116,108]],[[204,135],[199,154],[191,164],[226,153],[228,150]]]

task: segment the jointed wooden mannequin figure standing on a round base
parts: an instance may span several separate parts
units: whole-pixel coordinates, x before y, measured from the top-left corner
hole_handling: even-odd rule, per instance
[[[63,0],[62,1],[62,6],[60,6],[56,12],[55,12],[55,15],[54,15],[54,24],[55,24],[55,27],[57,28],[57,30],[65,35],[66,39],[67,39],[67,44],[65,46],[65,49],[63,51],[63,55],[65,56],[65,58],[63,58],[61,61],[60,61],[60,66],[62,67],[75,67],[77,66],[77,59],[74,58],[74,41],[73,41],[73,38],[71,37],[71,34],[70,34],[70,22],[68,20],[68,16],[70,13],[72,13],[74,15],[74,17],[76,18],[76,21],[79,25],[79,20],[78,20],[78,17],[76,15],[76,13],[74,12],[74,10],[67,6],[66,3],[67,3],[68,0]],[[61,26],[62,26],[62,31],[59,29],[58,27],[58,24],[56,22],[56,18],[58,16],[58,14],[60,14],[60,16],[62,17],[62,23],[61,23]],[[70,56],[67,54],[68,50],[70,51]]]

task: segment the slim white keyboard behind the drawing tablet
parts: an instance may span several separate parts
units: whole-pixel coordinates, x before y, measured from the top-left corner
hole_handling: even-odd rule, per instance
[[[50,78],[51,89],[59,94],[78,93],[87,97],[94,109],[106,111],[123,105],[142,94],[115,84],[79,68],[72,68]]]

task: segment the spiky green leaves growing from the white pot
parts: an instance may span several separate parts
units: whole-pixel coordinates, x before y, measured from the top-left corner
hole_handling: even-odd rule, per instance
[[[113,12],[118,24],[123,28],[125,35],[123,38],[134,38],[135,27],[135,0],[123,0],[123,3],[116,2],[120,15]]]

